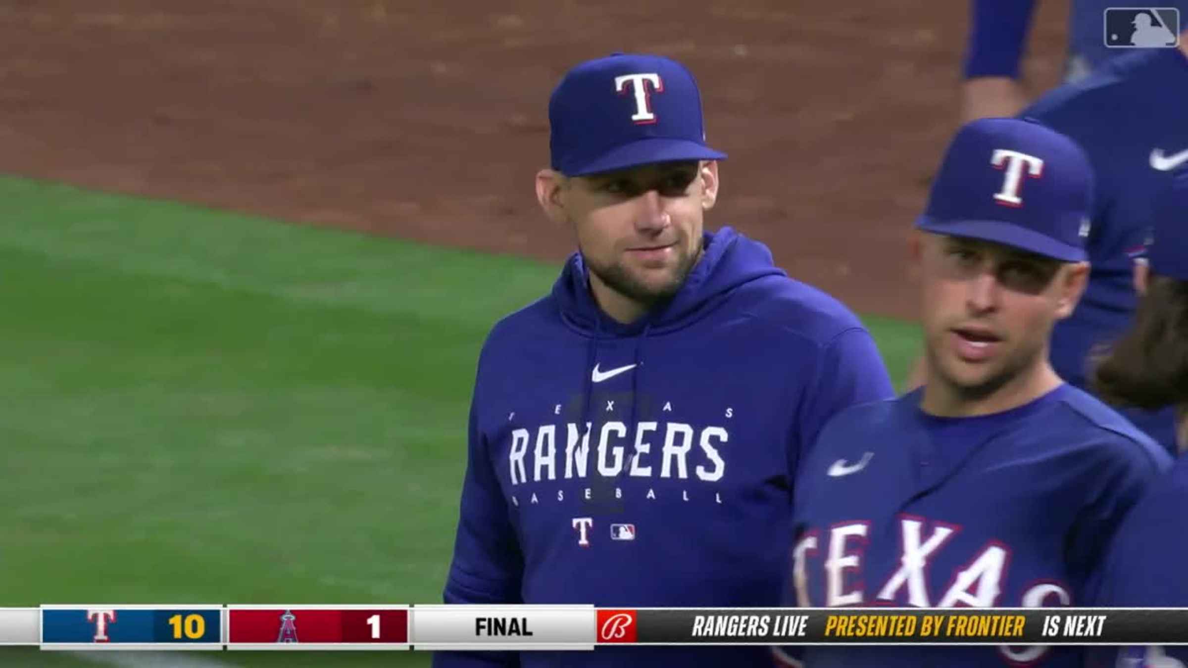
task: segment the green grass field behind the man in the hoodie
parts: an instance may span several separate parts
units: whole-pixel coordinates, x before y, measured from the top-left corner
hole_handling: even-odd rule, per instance
[[[440,600],[479,346],[557,266],[19,178],[0,202],[2,605]],[[867,323],[902,378],[916,328]]]

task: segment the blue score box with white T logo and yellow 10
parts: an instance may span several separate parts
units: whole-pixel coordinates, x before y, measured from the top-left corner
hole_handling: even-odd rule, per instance
[[[42,649],[222,649],[221,605],[43,605]]]

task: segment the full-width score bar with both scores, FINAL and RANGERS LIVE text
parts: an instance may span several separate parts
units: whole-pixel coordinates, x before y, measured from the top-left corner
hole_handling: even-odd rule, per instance
[[[0,607],[0,645],[45,650],[593,650],[605,644],[1188,645],[1188,607]]]

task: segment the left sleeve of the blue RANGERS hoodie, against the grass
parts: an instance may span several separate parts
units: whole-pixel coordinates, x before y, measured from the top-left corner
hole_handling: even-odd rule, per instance
[[[481,361],[480,361],[481,366]],[[446,603],[523,603],[524,557],[507,516],[486,442],[479,430],[478,387],[470,405],[469,448],[462,504],[454,541],[454,561],[446,580]],[[508,651],[440,651],[434,668],[514,668],[519,654]]]

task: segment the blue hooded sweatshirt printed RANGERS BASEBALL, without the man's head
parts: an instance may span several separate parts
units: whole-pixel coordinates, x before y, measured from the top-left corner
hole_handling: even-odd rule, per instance
[[[835,412],[892,396],[866,329],[726,227],[677,295],[605,316],[580,254],[479,358],[446,603],[775,606],[791,481]],[[434,664],[722,666],[765,648],[440,653]]]

